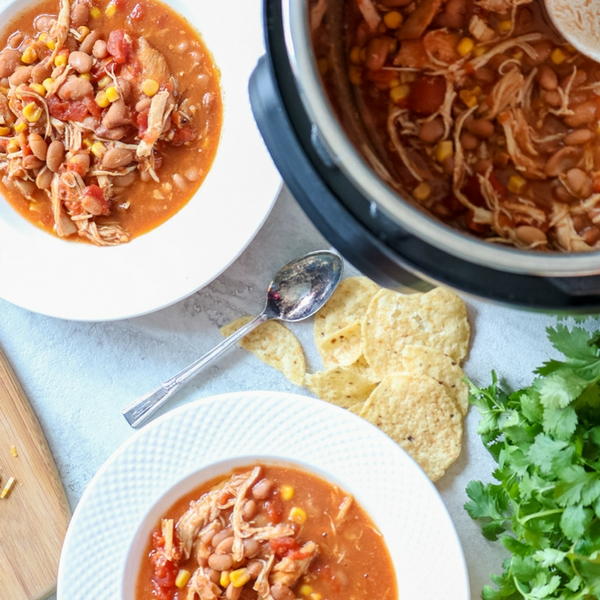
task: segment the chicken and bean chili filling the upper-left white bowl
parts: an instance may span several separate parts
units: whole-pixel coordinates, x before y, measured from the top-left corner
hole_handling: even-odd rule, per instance
[[[117,245],[194,195],[219,142],[219,75],[157,0],[44,0],[0,44],[0,191],[61,238]]]

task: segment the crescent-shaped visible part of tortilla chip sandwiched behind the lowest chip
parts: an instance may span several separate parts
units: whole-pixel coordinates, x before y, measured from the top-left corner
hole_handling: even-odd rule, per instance
[[[433,377],[446,388],[463,416],[469,412],[469,386],[465,373],[449,356],[427,346],[406,346],[400,362],[402,368],[397,371]]]

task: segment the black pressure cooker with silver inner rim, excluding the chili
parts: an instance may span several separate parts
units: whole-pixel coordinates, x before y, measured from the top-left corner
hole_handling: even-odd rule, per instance
[[[348,0],[329,1],[341,11]],[[264,25],[267,53],[250,81],[255,118],[292,194],[346,259],[388,287],[445,284],[525,308],[600,308],[600,253],[484,242],[428,216],[378,175],[364,158],[375,152],[367,127],[351,141],[322,85],[306,0],[265,0]]]

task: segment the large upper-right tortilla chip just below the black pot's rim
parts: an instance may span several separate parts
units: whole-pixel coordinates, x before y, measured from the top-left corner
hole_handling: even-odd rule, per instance
[[[430,346],[460,362],[467,354],[469,336],[465,303],[446,288],[410,295],[383,289],[362,322],[363,353],[382,378],[393,372],[409,345]]]

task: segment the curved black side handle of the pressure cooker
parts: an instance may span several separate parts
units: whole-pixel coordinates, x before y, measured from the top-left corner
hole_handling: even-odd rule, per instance
[[[356,268],[383,286],[427,291],[432,284],[398,265],[390,250],[368,234],[324,183],[301,145],[287,113],[272,65],[263,56],[249,84],[254,118],[281,176],[323,236]],[[322,155],[318,136],[312,152]],[[327,168],[336,169],[332,163]]]

